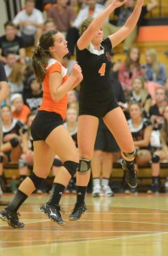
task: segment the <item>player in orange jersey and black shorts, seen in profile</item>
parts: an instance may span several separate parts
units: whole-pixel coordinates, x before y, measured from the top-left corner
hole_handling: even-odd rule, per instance
[[[34,146],[33,172],[20,184],[14,199],[0,212],[0,218],[14,228],[22,228],[17,211],[26,198],[48,177],[55,154],[63,161],[63,166],[53,181],[52,195],[40,210],[58,224],[64,224],[59,201],[71,177],[79,166],[78,153],[63,125],[67,108],[67,92],[81,82],[81,67],[76,63],[70,77],[61,64],[68,53],[67,42],[57,30],[42,34],[36,48],[32,64],[36,79],[43,84],[42,106],[31,124]]]

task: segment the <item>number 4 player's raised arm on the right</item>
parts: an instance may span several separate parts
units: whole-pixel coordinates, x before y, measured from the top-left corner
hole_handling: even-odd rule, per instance
[[[141,14],[142,7],[143,0],[137,0],[137,5],[133,10],[132,15],[130,15],[128,20],[126,20],[125,25],[122,26],[117,32],[109,36],[113,48],[116,45],[120,44],[120,42],[122,42],[137,25],[137,20],[139,19],[139,16]]]

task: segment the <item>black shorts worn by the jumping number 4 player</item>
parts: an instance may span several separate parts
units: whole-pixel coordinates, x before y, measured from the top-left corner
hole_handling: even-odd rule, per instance
[[[110,90],[95,92],[94,94],[80,92],[79,115],[88,114],[102,118],[106,113],[118,107],[115,96]]]

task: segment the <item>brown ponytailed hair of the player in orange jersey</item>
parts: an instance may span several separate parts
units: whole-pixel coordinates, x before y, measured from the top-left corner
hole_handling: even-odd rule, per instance
[[[52,56],[49,51],[49,47],[54,44],[54,36],[58,33],[58,30],[50,30],[44,32],[39,40],[39,45],[34,50],[32,56],[32,66],[36,74],[36,80],[42,83],[45,74],[46,66],[48,65],[48,59]]]

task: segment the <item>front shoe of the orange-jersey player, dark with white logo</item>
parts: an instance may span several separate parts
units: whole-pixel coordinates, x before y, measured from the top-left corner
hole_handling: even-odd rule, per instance
[[[64,225],[65,222],[61,217],[60,212],[64,213],[63,209],[59,205],[50,206],[48,203],[40,207],[40,211],[48,215],[48,218],[57,222],[59,225]]]

